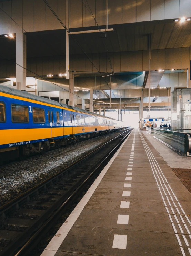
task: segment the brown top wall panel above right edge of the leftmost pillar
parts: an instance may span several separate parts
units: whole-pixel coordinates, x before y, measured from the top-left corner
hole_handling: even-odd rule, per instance
[[[34,31],[34,0],[24,0],[23,4],[23,29],[26,32]]]

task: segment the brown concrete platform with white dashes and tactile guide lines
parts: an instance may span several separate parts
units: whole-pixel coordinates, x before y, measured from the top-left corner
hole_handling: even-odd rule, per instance
[[[144,134],[132,131],[42,256],[191,255],[191,194]]]

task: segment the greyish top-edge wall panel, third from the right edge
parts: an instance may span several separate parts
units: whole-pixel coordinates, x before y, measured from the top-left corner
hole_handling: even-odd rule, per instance
[[[151,20],[165,19],[165,0],[151,0]]]

